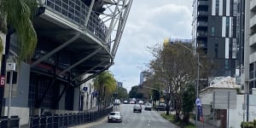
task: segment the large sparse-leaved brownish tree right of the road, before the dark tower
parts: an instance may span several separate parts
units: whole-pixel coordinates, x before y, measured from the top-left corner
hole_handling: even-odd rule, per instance
[[[189,46],[188,46],[189,47]],[[166,114],[169,114],[171,96],[176,102],[176,120],[182,108],[183,90],[196,79],[197,60],[192,52],[179,44],[157,46],[152,49],[154,60],[150,71],[166,90]]]

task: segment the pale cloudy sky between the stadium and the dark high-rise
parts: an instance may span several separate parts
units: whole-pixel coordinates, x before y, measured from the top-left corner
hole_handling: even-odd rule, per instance
[[[114,65],[109,68],[123,87],[139,84],[140,73],[153,59],[148,47],[164,38],[192,38],[193,0],[134,0],[119,43]]]

